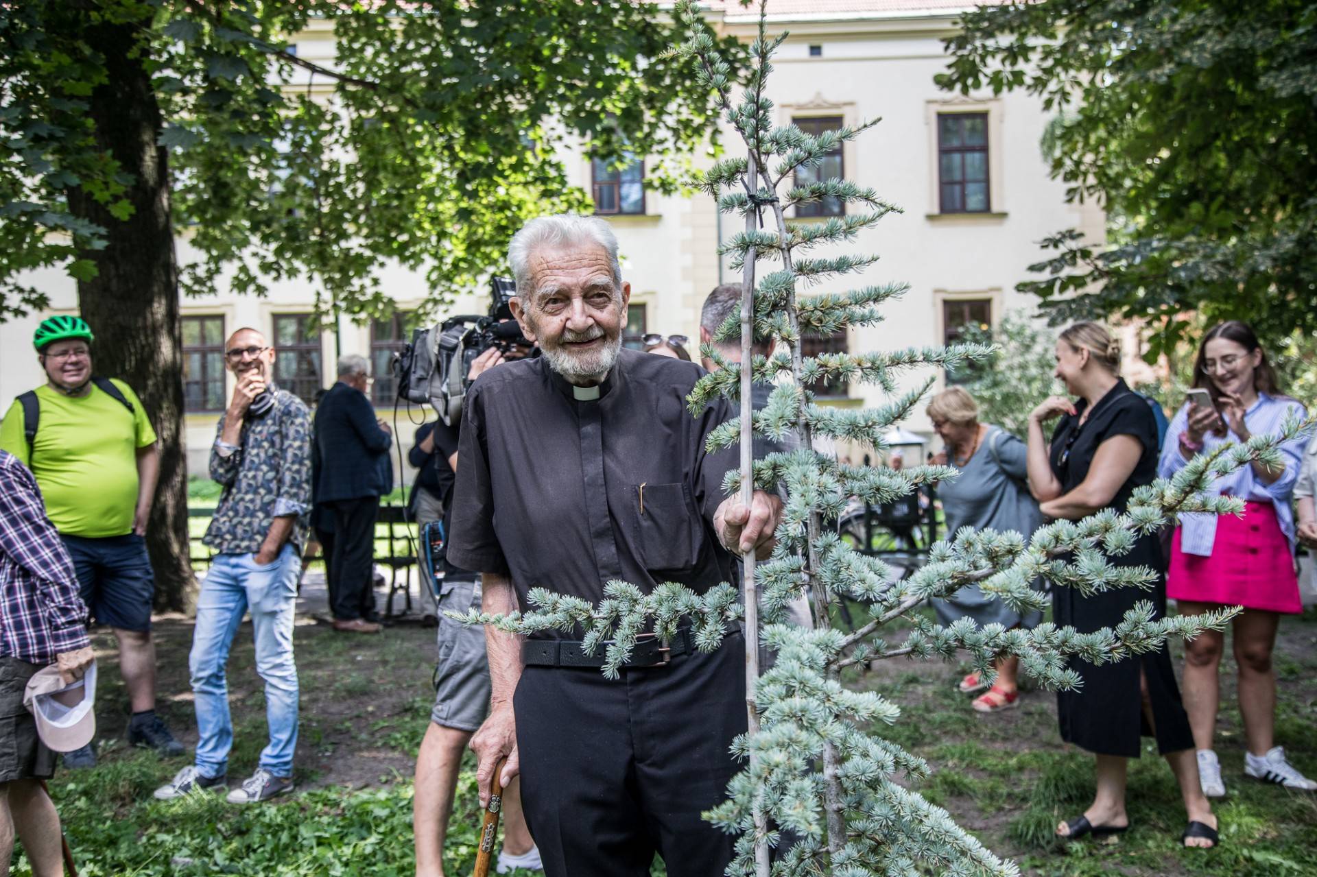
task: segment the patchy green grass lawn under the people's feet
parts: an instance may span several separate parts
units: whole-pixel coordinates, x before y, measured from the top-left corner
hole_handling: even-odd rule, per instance
[[[191,623],[157,624],[161,711],[195,744],[187,686]],[[65,818],[80,873],[100,876],[369,874],[410,876],[411,772],[425,731],[433,631],[400,625],[379,637],[335,635],[299,619],[302,728],[296,793],[281,803],[234,809],[215,797],[157,802],[151,790],[186,760],[159,761],[126,748],[125,694],[112,639],[95,636],[100,766],[61,772],[51,793]],[[1179,660],[1179,658],[1177,658]],[[1285,619],[1276,668],[1280,677],[1277,743],[1309,776],[1317,774],[1317,616]],[[1166,762],[1146,753],[1130,770],[1130,819],[1122,837],[1052,843],[1062,818],[1079,815],[1092,795],[1092,760],[1059,740],[1054,698],[1026,693],[1023,706],[979,716],[955,693],[963,668],[885,662],[851,683],[882,691],[905,714],[886,735],[934,766],[923,793],[1023,873],[1038,877],[1317,874],[1317,799],[1245,780],[1242,726],[1234,702],[1233,662],[1223,677],[1218,752],[1229,795],[1217,805],[1222,845],[1183,851],[1179,795]],[[244,625],[229,665],[236,747],[229,778],[254,769],[265,744],[263,698],[253,669],[250,627]],[[469,765],[470,766],[470,765]],[[474,861],[475,789],[468,769],[449,835],[449,874]],[[16,874],[30,869],[20,856]],[[657,869],[661,873],[661,869]]]

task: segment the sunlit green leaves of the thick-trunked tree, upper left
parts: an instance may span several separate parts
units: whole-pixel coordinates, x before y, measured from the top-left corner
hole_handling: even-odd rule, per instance
[[[47,307],[24,271],[95,270],[76,257],[103,248],[104,229],[70,212],[68,192],[126,211],[141,183],[97,150],[88,116],[107,59],[86,33],[101,21],[133,28],[122,50],[153,75],[154,93],[125,99],[165,115],[195,294],[309,275],[344,312],[378,313],[387,265],[450,292],[499,265],[529,216],[589,209],[557,158],[568,137],[605,158],[664,155],[712,128],[690,62],[661,57],[672,24],[623,0],[5,4],[0,319]],[[292,34],[327,24],[329,66],[295,54]],[[734,40],[719,46],[735,58]],[[645,183],[670,191],[681,167],[648,167]]]

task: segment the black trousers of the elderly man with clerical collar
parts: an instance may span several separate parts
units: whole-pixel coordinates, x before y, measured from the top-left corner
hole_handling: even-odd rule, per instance
[[[745,640],[665,668],[528,666],[512,699],[522,806],[545,877],[719,877],[735,839],[699,814],[727,797],[745,732]]]

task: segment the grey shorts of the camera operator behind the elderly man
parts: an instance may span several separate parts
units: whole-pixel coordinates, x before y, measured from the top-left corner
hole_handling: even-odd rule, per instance
[[[435,724],[475,731],[490,710],[490,669],[485,628],[465,627],[445,612],[481,608],[479,577],[445,578],[439,597],[439,662],[435,666]]]

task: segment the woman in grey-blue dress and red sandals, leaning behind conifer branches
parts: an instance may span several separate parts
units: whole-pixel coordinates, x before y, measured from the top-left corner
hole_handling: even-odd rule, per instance
[[[1027,449],[1015,436],[1000,427],[979,423],[979,403],[961,387],[950,387],[928,403],[928,420],[944,445],[934,462],[954,466],[960,475],[943,481],[938,498],[947,520],[947,539],[961,527],[1014,531],[1027,541],[1042,523],[1038,503],[1029,494]],[[951,624],[972,618],[979,627],[1001,624],[1005,628],[1033,628],[1040,612],[1021,614],[1000,599],[988,597],[979,585],[967,585],[946,599],[934,600],[938,620]],[[1019,658],[997,661],[997,678],[992,687],[979,673],[971,673],[957,686],[965,694],[986,691],[975,698],[977,712],[1000,712],[1019,706],[1017,674]]]

